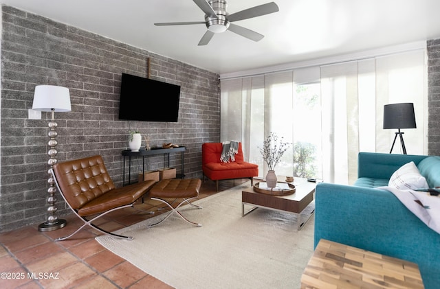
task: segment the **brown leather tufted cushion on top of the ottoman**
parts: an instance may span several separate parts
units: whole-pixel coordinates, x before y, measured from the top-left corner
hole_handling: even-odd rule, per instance
[[[199,178],[168,179],[159,181],[150,189],[150,197],[156,198],[192,198],[199,196],[201,181]]]

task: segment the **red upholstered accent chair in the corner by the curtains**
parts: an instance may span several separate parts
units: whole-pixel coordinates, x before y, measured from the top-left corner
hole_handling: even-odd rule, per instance
[[[244,161],[241,143],[239,143],[239,152],[235,154],[235,161],[230,163],[220,161],[222,149],[221,143],[203,143],[201,145],[203,181],[205,181],[205,176],[211,181],[215,181],[217,192],[219,192],[219,180],[249,178],[251,185],[253,185],[253,177],[259,175],[259,166]]]

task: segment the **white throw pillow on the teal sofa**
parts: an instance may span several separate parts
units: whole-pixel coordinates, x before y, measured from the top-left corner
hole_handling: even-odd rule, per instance
[[[426,189],[429,187],[413,161],[399,167],[399,170],[391,176],[388,186],[396,189]]]

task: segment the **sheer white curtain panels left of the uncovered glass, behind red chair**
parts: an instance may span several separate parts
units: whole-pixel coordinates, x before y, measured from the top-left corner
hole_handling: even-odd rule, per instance
[[[260,176],[267,168],[260,148],[270,132],[292,142],[293,73],[221,81],[221,141],[243,143],[245,160],[259,164]],[[276,170],[292,175],[292,148]]]

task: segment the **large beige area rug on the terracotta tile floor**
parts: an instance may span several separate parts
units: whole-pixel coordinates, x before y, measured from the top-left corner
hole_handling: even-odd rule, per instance
[[[314,216],[296,231],[296,216],[256,209],[241,216],[245,183],[197,200],[150,229],[145,220],[118,231],[134,240],[102,235],[96,240],[149,275],[175,288],[300,288],[303,270],[313,254]],[[245,206],[250,209],[250,206]],[[314,209],[312,202],[305,211]],[[303,212],[305,212],[303,211]]]

